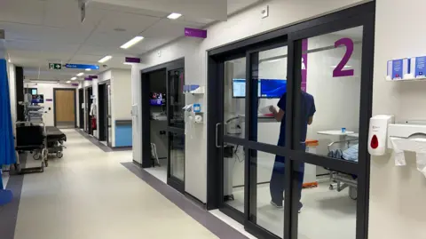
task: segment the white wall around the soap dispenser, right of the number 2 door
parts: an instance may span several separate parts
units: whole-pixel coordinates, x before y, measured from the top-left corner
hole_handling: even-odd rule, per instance
[[[373,115],[426,119],[426,83],[384,80],[387,60],[426,55],[426,34],[419,31],[425,8],[423,0],[376,1]],[[395,18],[402,12],[405,18]],[[413,154],[406,161],[396,167],[390,155],[371,158],[369,238],[426,238],[426,179]]]

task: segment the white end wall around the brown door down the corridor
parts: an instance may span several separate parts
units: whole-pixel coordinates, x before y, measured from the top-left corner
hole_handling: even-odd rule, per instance
[[[55,110],[54,110],[54,101],[48,102],[47,99],[53,100],[53,89],[76,89],[75,86],[71,86],[69,84],[33,84],[33,83],[25,83],[24,88],[36,88],[38,94],[43,94],[44,103],[40,104],[44,107],[44,110],[47,113],[43,114],[43,123],[46,126],[54,126],[55,125]],[[77,92],[78,93],[78,92]],[[78,98],[78,94],[75,94],[75,99]],[[49,110],[49,108],[51,108]],[[78,118],[77,118],[78,120]]]

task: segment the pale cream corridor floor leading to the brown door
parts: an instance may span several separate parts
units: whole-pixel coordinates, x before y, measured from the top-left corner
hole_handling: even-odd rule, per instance
[[[207,220],[217,230],[224,227],[211,219],[214,216],[202,215],[201,207],[193,203],[177,203],[201,214],[197,217],[202,222],[197,222],[130,171],[135,167],[129,164],[131,151],[106,153],[81,133],[63,131],[67,134],[64,157],[51,160],[49,171],[8,180],[6,188],[13,193],[21,190],[15,195],[20,203],[12,210],[0,210],[0,230],[8,232],[1,238],[217,238],[201,225]],[[5,223],[15,215],[16,229]],[[232,229],[222,230],[233,236]]]

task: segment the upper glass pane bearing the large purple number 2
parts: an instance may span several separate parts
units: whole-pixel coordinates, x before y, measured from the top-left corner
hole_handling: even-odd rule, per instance
[[[318,143],[312,154],[358,162],[362,33],[349,28],[303,40],[301,114],[312,123],[307,139]]]

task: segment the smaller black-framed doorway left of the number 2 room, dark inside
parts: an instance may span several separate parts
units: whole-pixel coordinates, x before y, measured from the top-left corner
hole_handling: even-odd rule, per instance
[[[142,167],[185,191],[185,61],[142,71]]]

